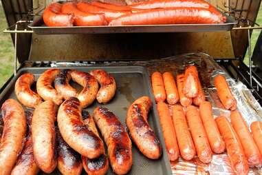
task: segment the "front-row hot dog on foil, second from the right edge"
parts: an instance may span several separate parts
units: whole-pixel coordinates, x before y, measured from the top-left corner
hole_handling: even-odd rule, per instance
[[[259,166],[262,163],[262,157],[259,152],[259,148],[254,143],[254,140],[248,130],[248,125],[245,123],[240,112],[232,111],[231,123],[234,130],[237,132],[237,136],[242,144],[245,157],[248,159],[248,165],[250,167]]]

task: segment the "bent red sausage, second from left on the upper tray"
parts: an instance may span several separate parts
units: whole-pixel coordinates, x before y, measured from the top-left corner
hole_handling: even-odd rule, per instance
[[[74,25],[77,26],[107,25],[104,14],[82,12],[76,8],[76,3],[63,3],[61,12],[65,14],[74,14]]]

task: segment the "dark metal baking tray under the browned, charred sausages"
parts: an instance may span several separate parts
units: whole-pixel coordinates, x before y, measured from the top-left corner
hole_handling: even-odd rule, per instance
[[[26,72],[30,72],[34,74],[35,78],[38,79],[39,75],[43,73],[45,70],[50,68],[22,68],[17,72],[17,75],[10,81],[5,90],[0,94],[0,105],[3,104],[6,99],[16,99],[14,94],[14,84],[17,78]],[[59,68],[63,69],[63,68]],[[70,68],[69,68],[70,69]],[[158,138],[160,138],[160,142],[162,143],[163,155],[159,160],[151,160],[143,156],[138,148],[133,144],[132,152],[133,152],[133,166],[129,174],[150,174],[150,175],[161,175],[161,174],[172,174],[171,164],[168,160],[166,154],[166,148],[164,145],[164,138],[162,136],[162,131],[160,127],[160,121],[157,116],[157,111],[155,107],[155,100],[153,98],[149,74],[146,68],[142,66],[109,66],[109,67],[88,67],[88,68],[71,68],[75,70],[80,70],[83,72],[89,72],[94,69],[103,69],[107,72],[111,73],[113,77],[116,79],[117,90],[116,95],[112,101],[110,101],[107,105],[102,105],[111,110],[118,119],[122,122],[124,126],[126,126],[125,119],[129,106],[135,99],[138,99],[140,96],[150,96],[153,101],[153,110],[151,110],[149,114],[149,125],[155,131],[155,134]],[[79,85],[72,83],[74,88],[80,88]],[[33,85],[34,89],[34,85]],[[95,102],[91,106],[87,107],[85,110],[93,114],[94,108],[97,107],[98,104]],[[107,150],[107,149],[106,149]],[[43,174],[43,173],[40,173]],[[52,174],[59,174],[56,169]],[[83,169],[83,174],[85,174],[85,170]],[[113,174],[111,171],[111,167],[107,174]]]

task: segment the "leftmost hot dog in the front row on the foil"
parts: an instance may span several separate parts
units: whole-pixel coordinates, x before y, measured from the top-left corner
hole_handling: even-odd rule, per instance
[[[175,127],[168,110],[168,106],[164,102],[157,103],[157,112],[160,117],[160,124],[166,143],[167,155],[170,161],[177,160],[179,156],[179,148],[175,134]]]

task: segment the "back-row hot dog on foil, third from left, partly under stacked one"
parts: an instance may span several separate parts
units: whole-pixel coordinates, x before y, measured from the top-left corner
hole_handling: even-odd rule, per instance
[[[177,75],[177,90],[179,94],[179,101],[182,106],[186,107],[192,104],[192,99],[184,95],[183,85],[184,85],[184,74],[179,74]]]

